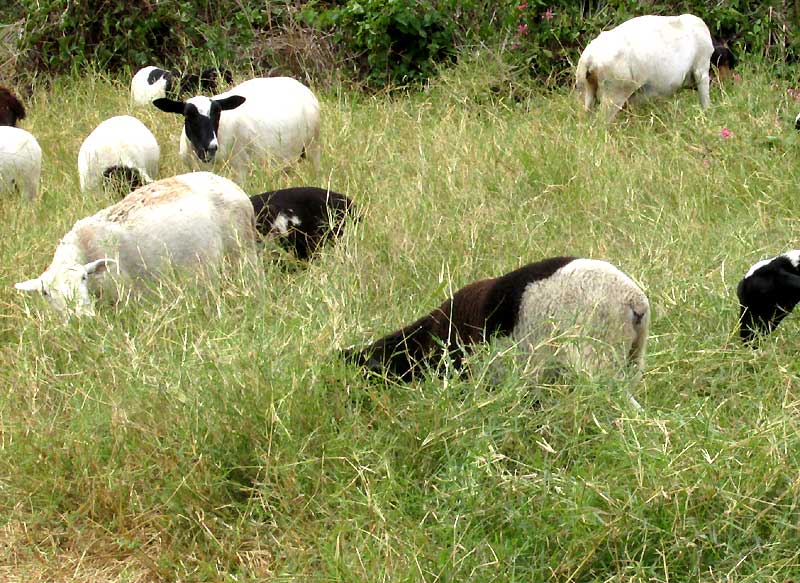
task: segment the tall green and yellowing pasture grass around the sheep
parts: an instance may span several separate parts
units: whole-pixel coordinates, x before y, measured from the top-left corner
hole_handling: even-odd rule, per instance
[[[409,97],[322,93],[324,178],[301,165],[244,187],[347,193],[363,219],[340,244],[304,270],[265,258],[66,325],[11,286],[111,203],[79,192],[76,159],[129,112],[127,83],[36,92],[41,200],[0,199],[0,578],[800,576],[800,329],[790,316],[745,348],[735,297],[753,262],[797,247],[797,105],[745,69],[706,112],[684,92],[606,126],[566,91],[490,91],[502,73],[478,61]],[[161,176],[182,172],[181,119],[135,114]],[[336,358],[560,254],[608,259],[650,297],[638,385],[534,386],[499,345],[470,376],[407,385]]]

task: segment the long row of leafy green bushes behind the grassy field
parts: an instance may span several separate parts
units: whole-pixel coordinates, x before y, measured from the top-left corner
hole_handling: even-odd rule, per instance
[[[225,63],[316,82],[346,71],[381,88],[423,82],[474,45],[498,47],[538,82],[571,83],[580,51],[601,30],[684,12],[781,73],[800,55],[800,5],[788,0],[105,0],[101,10],[89,0],[18,0],[0,21],[24,22],[18,72]]]

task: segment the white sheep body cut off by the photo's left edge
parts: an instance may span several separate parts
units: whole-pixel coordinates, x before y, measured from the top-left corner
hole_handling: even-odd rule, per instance
[[[19,189],[34,200],[39,193],[42,148],[30,133],[0,126],[0,190]]]

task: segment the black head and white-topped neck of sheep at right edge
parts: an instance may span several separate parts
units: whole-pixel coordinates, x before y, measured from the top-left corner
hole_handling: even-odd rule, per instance
[[[769,334],[800,302],[800,250],[787,251],[753,265],[736,286],[739,335],[750,344]]]

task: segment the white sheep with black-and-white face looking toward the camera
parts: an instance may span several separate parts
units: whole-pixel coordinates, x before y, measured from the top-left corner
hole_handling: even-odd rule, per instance
[[[241,182],[254,166],[308,156],[319,170],[319,102],[290,77],[250,79],[213,98],[162,98],[153,105],[186,118],[180,155],[191,169],[227,162]]]

